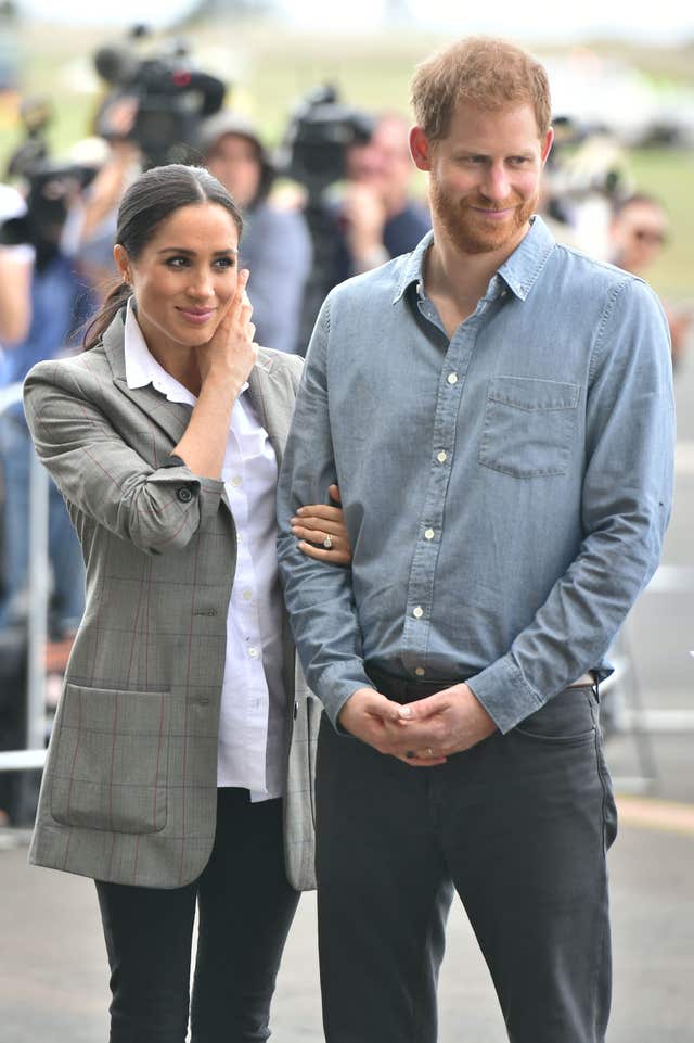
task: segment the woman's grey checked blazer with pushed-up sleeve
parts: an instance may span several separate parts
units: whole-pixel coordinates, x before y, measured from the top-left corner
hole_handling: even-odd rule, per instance
[[[278,461],[301,360],[261,348],[250,394]],[[174,888],[204,868],[215,835],[227,608],[236,560],[223,483],[169,455],[190,407],[128,387],[124,321],[25,383],[34,444],[67,501],[87,563],[87,602],[65,674],[30,850],[37,865]],[[320,705],[284,622],[285,861],[313,881]]]

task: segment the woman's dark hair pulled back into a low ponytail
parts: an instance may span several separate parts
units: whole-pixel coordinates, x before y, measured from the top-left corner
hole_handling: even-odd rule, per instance
[[[231,215],[239,230],[243,220],[239,207],[227,189],[204,167],[170,163],[152,167],[132,182],[120,201],[115,242],[124,246],[131,260],[138,259],[162,221],[181,206],[218,203]],[[116,313],[132,295],[132,287],[118,282],[91,320],[83,338],[85,351],[101,339]]]

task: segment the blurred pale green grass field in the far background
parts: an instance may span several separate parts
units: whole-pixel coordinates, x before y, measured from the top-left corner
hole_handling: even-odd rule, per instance
[[[229,82],[229,101],[254,118],[271,143],[277,143],[293,106],[321,82],[334,84],[351,106],[407,111],[409,81],[414,65],[442,40],[424,34],[345,37],[298,35],[274,24],[191,29],[187,34],[193,56]],[[68,73],[89,69],[94,50],[114,37],[94,29],[27,27],[21,37],[21,67],[25,93],[48,94],[55,105],[50,141],[56,155],[91,133],[99,91],[77,91]],[[633,61],[650,76],[694,85],[694,47],[627,48],[594,44],[604,56]],[[549,48],[538,49],[542,50]],[[11,104],[0,99],[0,165],[21,140],[11,126]],[[655,289],[676,298],[694,297],[694,212],[690,187],[694,183],[692,153],[639,151],[629,157],[634,185],[665,203],[672,225],[672,241],[651,275]]]

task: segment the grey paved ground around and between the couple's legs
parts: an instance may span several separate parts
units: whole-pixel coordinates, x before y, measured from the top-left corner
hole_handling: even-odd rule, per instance
[[[632,817],[633,803],[626,802],[622,821]],[[615,1001],[609,1043],[689,1043],[693,1038],[694,809],[682,831],[667,816],[660,818],[663,828],[622,825],[611,856]],[[3,839],[9,842],[0,836],[0,844]],[[0,849],[0,1039],[103,1043],[107,980],[92,885],[28,869],[25,860],[24,847]],[[278,1043],[321,1043],[318,995],[316,906],[313,895],[305,895],[274,1002]],[[451,913],[440,1006],[440,1043],[505,1040],[486,967],[458,906]]]

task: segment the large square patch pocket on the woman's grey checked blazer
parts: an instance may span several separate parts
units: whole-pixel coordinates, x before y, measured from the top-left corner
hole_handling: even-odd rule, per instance
[[[66,685],[51,758],[64,826],[149,834],[167,818],[170,692]]]

